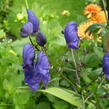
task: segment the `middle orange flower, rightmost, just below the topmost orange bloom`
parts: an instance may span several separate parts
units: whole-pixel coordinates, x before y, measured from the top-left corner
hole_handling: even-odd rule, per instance
[[[106,23],[106,17],[104,11],[100,11],[98,14],[93,15],[90,20],[98,23]]]

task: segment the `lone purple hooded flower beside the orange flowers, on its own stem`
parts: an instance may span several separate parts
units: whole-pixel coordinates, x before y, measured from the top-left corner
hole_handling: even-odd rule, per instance
[[[77,23],[73,21],[69,22],[63,32],[68,48],[78,49],[80,38],[77,35]]]

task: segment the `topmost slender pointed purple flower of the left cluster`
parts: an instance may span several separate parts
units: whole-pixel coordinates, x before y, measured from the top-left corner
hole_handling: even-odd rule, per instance
[[[33,24],[33,33],[39,31],[39,21],[36,15],[30,10],[27,10],[28,13],[28,22],[31,22]]]

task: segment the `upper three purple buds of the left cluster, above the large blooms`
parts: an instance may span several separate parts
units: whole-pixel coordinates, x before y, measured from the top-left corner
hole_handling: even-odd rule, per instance
[[[46,36],[42,32],[40,32],[38,18],[30,9],[27,10],[27,14],[28,14],[28,22],[26,22],[22,26],[20,35],[22,37],[35,35],[37,43],[40,46],[44,46],[47,40]]]

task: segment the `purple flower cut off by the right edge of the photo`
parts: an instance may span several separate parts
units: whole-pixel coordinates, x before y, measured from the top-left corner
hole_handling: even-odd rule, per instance
[[[104,55],[102,66],[107,79],[109,79],[109,52]]]

